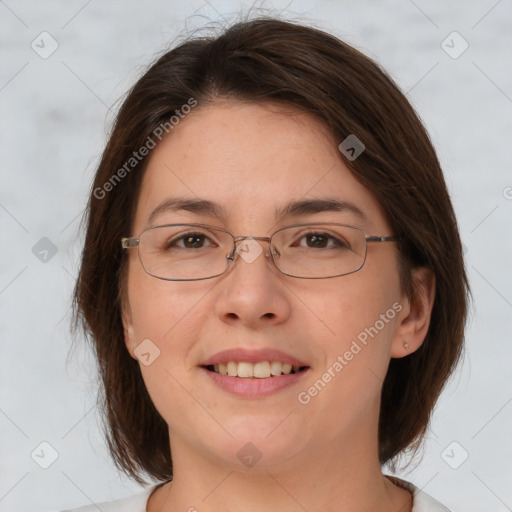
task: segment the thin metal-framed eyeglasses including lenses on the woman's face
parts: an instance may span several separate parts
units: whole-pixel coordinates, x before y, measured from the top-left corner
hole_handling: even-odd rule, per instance
[[[368,242],[398,242],[400,238],[367,236],[353,226],[323,222],[287,226],[270,237],[234,237],[206,224],[167,224],[149,227],[138,237],[122,238],[121,246],[138,247],[140,262],[153,277],[197,281],[224,274],[237,254],[252,263],[263,252],[258,241],[268,242],[270,259],[281,273],[326,279],[360,270]]]

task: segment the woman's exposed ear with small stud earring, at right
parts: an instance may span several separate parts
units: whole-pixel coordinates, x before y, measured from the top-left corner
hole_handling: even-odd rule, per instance
[[[391,357],[400,358],[418,350],[430,325],[436,291],[435,276],[426,267],[412,270],[414,297],[404,297],[400,312],[399,325],[396,328],[391,345]]]

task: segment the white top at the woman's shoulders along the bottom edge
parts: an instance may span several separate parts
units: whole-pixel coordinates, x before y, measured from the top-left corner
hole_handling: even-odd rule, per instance
[[[418,489],[414,484],[390,475],[385,476],[396,485],[411,492],[413,496],[412,512],[450,512],[448,508],[441,505],[441,503],[421,489]],[[128,498],[88,505],[73,509],[72,511],[63,510],[62,512],[98,512],[98,508],[102,512],[146,512],[149,496],[159,485],[161,484],[155,484],[148,487],[145,491],[135,494],[134,496],[129,496]]]

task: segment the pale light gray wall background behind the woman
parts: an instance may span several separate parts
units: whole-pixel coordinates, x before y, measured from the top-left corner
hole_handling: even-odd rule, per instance
[[[185,26],[229,19],[241,5],[0,1],[0,511],[60,510],[139,489],[106,452],[91,357],[67,360],[80,216],[116,100]],[[512,1],[263,5],[288,5],[284,16],[315,20],[375,58],[427,125],[475,304],[464,364],[435,411],[425,455],[401,476],[454,512],[512,510]],[[35,40],[51,49],[43,31],[59,45],[46,59],[31,48]],[[469,44],[456,59],[441,46],[453,31]],[[452,36],[445,46],[453,54],[461,44]],[[32,252],[42,237],[57,248],[46,263]],[[46,470],[31,458],[36,450],[50,461],[43,441],[58,452]],[[469,458],[453,469],[446,461],[457,465],[463,450]]]

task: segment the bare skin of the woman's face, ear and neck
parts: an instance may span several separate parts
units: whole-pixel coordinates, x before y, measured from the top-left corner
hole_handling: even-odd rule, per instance
[[[186,211],[153,225],[200,222],[235,236],[269,236],[283,224],[276,207],[290,200],[350,200],[368,217],[322,212],[299,222],[341,222],[368,235],[393,235],[373,194],[344,164],[324,126],[290,106],[217,101],[197,107],[152,151],[131,235],[170,196],[208,199],[227,210],[221,222]],[[332,279],[282,275],[265,256],[238,258],[224,275],[202,281],[156,279],[129,251],[123,322],[132,357],[149,338],[160,356],[140,368],[169,425],[174,480],[147,510],[408,512],[410,493],[378,461],[380,392],[391,357],[417,350],[427,333],[435,283],[414,270],[414,303],[399,285],[397,244],[368,245],[364,267]],[[307,405],[297,395],[332,366],[352,340],[392,307],[402,310]],[[407,342],[409,348],[404,347]],[[262,399],[234,397],[198,365],[232,347],[284,350],[311,367],[299,386]],[[253,443],[261,459],[245,467],[237,452]]]

